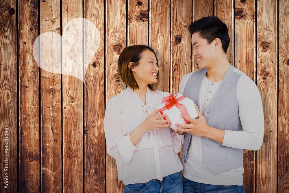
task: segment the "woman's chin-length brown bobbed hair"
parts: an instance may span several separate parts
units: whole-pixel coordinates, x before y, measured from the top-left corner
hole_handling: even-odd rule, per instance
[[[151,47],[146,46],[146,45],[128,46],[125,49],[123,49],[123,51],[119,55],[118,65],[117,65],[118,72],[123,82],[128,87],[133,89],[133,91],[134,89],[138,90],[139,86],[138,86],[138,83],[136,82],[136,79],[134,78],[134,75],[132,74],[131,69],[139,65],[139,61],[142,58],[142,53],[147,49],[153,52],[158,63],[158,58],[155,54],[155,51],[153,51]],[[128,66],[130,62],[133,63],[133,65],[131,65],[131,69],[129,69],[129,66]],[[157,80],[159,80],[159,73],[157,73]],[[151,89],[152,91],[155,91],[155,87],[157,83],[158,82],[153,83],[153,84],[148,84],[149,89]]]

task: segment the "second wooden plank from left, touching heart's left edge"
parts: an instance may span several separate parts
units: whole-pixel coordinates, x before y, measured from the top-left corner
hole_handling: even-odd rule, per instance
[[[39,187],[39,66],[33,57],[38,36],[38,3],[18,1],[19,8],[19,191]]]

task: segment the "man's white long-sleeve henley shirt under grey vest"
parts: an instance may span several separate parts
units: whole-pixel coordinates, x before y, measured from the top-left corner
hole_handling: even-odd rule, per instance
[[[262,145],[264,135],[264,114],[260,92],[256,84],[245,73],[238,69],[234,71],[242,74],[237,84],[236,94],[243,130],[225,130],[222,145],[239,149],[258,150]],[[188,73],[182,78],[179,93],[184,93],[184,87],[192,73],[194,72]],[[204,77],[199,92],[198,106],[203,115],[221,82],[222,80],[210,82],[206,76]],[[202,137],[192,135],[183,165],[184,177],[191,181],[214,185],[243,184],[243,166],[215,175],[204,165]]]

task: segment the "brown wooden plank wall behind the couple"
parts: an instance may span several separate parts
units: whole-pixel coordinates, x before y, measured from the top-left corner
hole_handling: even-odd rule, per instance
[[[262,97],[264,143],[258,151],[244,150],[245,191],[288,191],[289,1],[3,0],[0,192],[123,192],[103,128],[105,107],[113,105],[108,100],[125,89],[118,56],[129,45],[151,46],[160,65],[158,90],[177,93],[184,74],[199,69],[188,25],[207,15],[227,24],[229,62],[256,83]],[[62,35],[78,17],[94,23],[101,39],[85,84],[41,69],[33,57],[38,35]],[[83,57],[62,58],[62,65],[70,60],[82,63]]]

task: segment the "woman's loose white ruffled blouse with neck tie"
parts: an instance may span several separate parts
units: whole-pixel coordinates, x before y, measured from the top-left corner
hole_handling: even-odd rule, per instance
[[[116,160],[118,179],[125,185],[145,183],[183,169],[177,153],[184,135],[170,127],[146,132],[134,146],[133,132],[170,93],[147,87],[146,105],[129,87],[111,98],[105,109],[104,131],[107,152]]]

